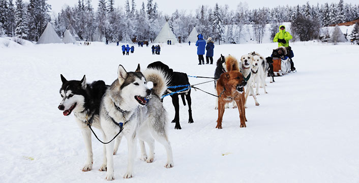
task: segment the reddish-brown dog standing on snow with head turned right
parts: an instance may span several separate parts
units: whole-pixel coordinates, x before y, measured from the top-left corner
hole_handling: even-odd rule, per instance
[[[222,129],[222,118],[226,103],[235,101],[240,112],[241,128],[246,127],[245,93],[244,86],[247,82],[239,71],[230,71],[221,74],[217,82],[218,119],[216,128]]]

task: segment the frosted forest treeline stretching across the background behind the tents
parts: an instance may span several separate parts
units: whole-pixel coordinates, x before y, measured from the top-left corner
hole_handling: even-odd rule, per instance
[[[117,7],[117,8],[116,8]],[[0,0],[0,34],[18,36],[37,41],[47,22],[51,21],[59,36],[63,36],[71,24],[83,40],[98,41],[103,37],[110,41],[154,40],[166,21],[177,37],[184,42],[195,26],[204,37],[215,41],[232,43],[240,39],[244,24],[252,24],[255,40],[262,42],[265,25],[271,23],[272,34],[278,32],[281,22],[292,22],[291,32],[301,41],[317,39],[319,28],[330,24],[351,21],[359,17],[359,6],[325,3],[316,6],[278,6],[249,10],[240,3],[235,10],[228,5],[200,6],[194,14],[176,10],[171,15],[159,11],[153,0],[136,5],[135,0],[126,0],[124,8],[118,8],[113,0],[99,0],[97,11],[91,0],[78,0],[77,5],[67,6],[50,20],[50,5],[46,0]]]

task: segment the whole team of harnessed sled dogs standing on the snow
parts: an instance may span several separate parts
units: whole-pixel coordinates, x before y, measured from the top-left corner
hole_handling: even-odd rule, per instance
[[[248,95],[253,96],[255,104],[258,106],[256,95],[259,95],[259,87],[263,87],[264,93],[267,93],[265,77],[269,67],[268,61],[269,59],[266,60],[256,52],[241,56],[241,63],[238,63],[231,55],[224,57],[221,54],[215,71],[215,78],[218,79],[215,86],[219,96],[216,128],[222,129],[224,109],[231,102],[235,103],[234,107],[237,107],[240,113],[240,127],[246,127],[245,108],[247,108]],[[99,129],[105,142],[111,141],[122,130],[114,142],[103,146],[103,164],[99,170],[107,171],[107,180],[114,179],[113,155],[116,154],[123,136],[128,142],[128,165],[124,178],[133,177],[137,139],[141,149],[141,160],[147,163],[154,161],[156,140],[166,149],[167,162],[164,166],[166,168],[173,167],[172,148],[166,130],[167,113],[163,108],[161,96],[165,92],[170,92],[167,89],[171,85],[170,83],[178,83],[178,80],[183,80],[185,75],[173,72],[172,69],[169,70],[174,75],[169,74],[168,70],[163,69],[168,66],[161,62],[156,62],[155,65],[156,67],[148,66],[143,72],[141,72],[140,65],[137,66],[135,72],[127,72],[122,65],[119,65],[117,78],[111,85],[106,85],[102,80],[87,84],[85,76],[81,80],[67,80],[61,75],[62,86],[59,93],[62,101],[58,105],[58,109],[63,110],[65,116],[73,113],[81,128],[87,151],[82,171],[89,171],[93,168],[92,131],[88,128],[89,126]],[[187,83],[188,78],[184,81]],[[255,94],[253,85],[256,85]],[[245,89],[245,87],[247,88]],[[190,90],[186,90],[178,95],[181,95],[184,104],[184,96],[186,96],[189,104],[189,123],[193,123],[189,94]],[[176,109],[176,115],[172,122],[176,123],[176,129],[181,129],[177,113],[178,107],[176,108],[178,95],[172,98]],[[148,145],[148,154],[144,142]]]

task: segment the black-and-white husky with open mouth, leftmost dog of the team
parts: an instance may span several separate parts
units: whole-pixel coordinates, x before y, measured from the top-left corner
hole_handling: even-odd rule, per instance
[[[91,124],[91,126],[101,130],[99,121],[100,102],[108,86],[102,80],[94,81],[92,84],[86,84],[85,76],[83,76],[81,81],[68,81],[61,74],[61,80],[63,82],[60,88],[62,101],[58,105],[58,109],[63,110],[65,116],[70,115],[72,112],[74,113],[77,125],[81,128],[87,151],[87,159],[82,171],[89,171],[92,170],[94,161],[91,144],[91,130],[87,127],[87,122]],[[121,139],[116,139],[115,151],[117,151],[119,141],[121,141]],[[105,146],[103,149],[104,159],[100,170],[106,171]]]

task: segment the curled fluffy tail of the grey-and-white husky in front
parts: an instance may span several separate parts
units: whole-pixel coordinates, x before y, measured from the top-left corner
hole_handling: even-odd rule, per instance
[[[162,70],[156,68],[148,68],[143,72],[144,77],[147,82],[152,81],[154,87],[152,88],[152,93],[161,97],[169,84],[169,76],[165,74]]]

